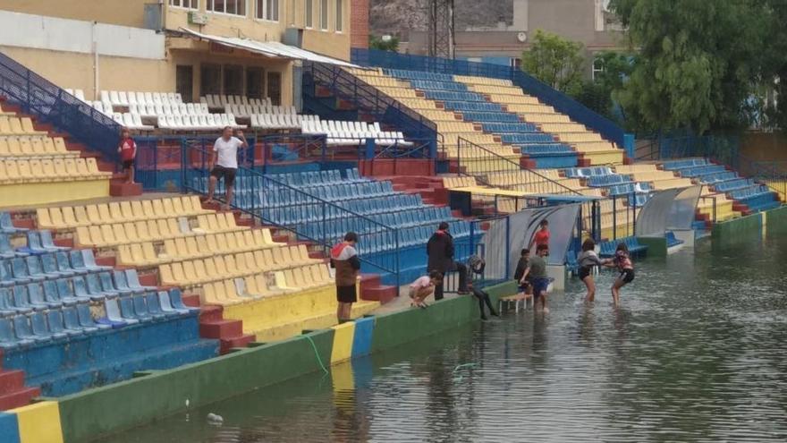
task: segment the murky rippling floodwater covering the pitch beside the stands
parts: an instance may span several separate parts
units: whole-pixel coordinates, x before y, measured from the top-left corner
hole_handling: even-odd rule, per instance
[[[102,441],[785,441],[787,231],[735,241]]]

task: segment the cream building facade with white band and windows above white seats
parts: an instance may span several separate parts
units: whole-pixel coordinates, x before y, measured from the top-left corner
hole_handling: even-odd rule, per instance
[[[4,0],[0,51],[58,86],[271,98],[290,105],[291,57],[266,56],[184,30],[283,42],[349,60],[351,0]]]

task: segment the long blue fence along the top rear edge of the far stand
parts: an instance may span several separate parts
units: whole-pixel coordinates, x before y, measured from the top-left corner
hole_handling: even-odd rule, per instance
[[[450,73],[453,75],[472,75],[505,79],[537,97],[557,111],[569,115],[571,120],[588,126],[600,133],[605,139],[614,141],[618,146],[633,155],[634,138],[603,115],[597,114],[587,106],[553,89],[535,77],[519,69],[500,64],[484,64],[464,60],[429,57],[426,55],[404,55],[376,49],[353,48],[352,63],[362,66],[379,66],[389,69]]]

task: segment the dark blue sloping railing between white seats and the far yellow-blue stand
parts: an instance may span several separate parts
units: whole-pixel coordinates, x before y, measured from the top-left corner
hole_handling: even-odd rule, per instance
[[[437,126],[395,98],[360,80],[358,77],[333,64],[309,62],[303,66],[304,106],[317,115],[333,118],[337,112],[317,98],[317,88],[324,87],[336,96],[352,101],[364,113],[378,122],[391,125],[403,132],[407,139],[430,141],[430,156],[437,152]]]

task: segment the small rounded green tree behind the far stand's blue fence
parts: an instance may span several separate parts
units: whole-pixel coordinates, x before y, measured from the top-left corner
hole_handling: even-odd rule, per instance
[[[582,87],[582,44],[536,30],[530,49],[522,53],[522,70],[563,93],[576,95]]]

